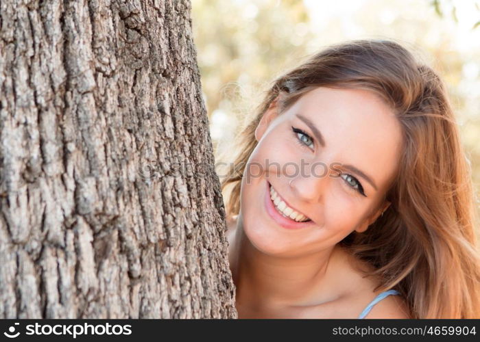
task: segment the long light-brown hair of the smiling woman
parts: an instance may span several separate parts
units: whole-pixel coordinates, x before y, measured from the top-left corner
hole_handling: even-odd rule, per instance
[[[440,77],[397,42],[335,44],[277,77],[256,116],[237,137],[237,156],[221,179],[227,218],[240,209],[240,186],[254,131],[275,99],[280,112],[317,88],[363,88],[390,105],[403,128],[403,154],[387,192],[392,203],[364,233],[340,242],[374,266],[377,289],[397,289],[413,318],[479,318],[480,261],[470,163]],[[279,94],[285,96],[278,96]]]

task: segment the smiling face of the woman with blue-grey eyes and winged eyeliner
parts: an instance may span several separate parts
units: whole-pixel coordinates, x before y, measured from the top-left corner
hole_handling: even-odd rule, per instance
[[[255,137],[241,183],[241,218],[262,252],[291,257],[331,248],[352,231],[365,231],[389,205],[383,198],[402,135],[376,94],[315,88],[283,114],[271,105]],[[271,200],[269,185],[278,200]],[[274,206],[283,208],[280,198],[311,221],[284,218]]]

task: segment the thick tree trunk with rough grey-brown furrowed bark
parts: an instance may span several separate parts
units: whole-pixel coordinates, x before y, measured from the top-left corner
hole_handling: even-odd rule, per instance
[[[190,10],[0,0],[1,318],[237,317]]]

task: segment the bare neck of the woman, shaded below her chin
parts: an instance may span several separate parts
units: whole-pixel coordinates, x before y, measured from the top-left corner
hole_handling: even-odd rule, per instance
[[[276,257],[257,250],[245,236],[241,218],[230,240],[230,268],[237,306],[268,310],[313,305],[337,297],[329,269],[337,248],[299,257]]]

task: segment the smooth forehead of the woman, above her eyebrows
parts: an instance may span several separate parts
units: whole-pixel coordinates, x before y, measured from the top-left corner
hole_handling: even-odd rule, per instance
[[[320,130],[326,144],[320,148],[329,161],[359,168],[379,187],[394,176],[402,131],[392,109],[374,92],[315,88],[288,110],[289,117],[296,114],[309,118]]]

